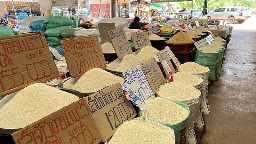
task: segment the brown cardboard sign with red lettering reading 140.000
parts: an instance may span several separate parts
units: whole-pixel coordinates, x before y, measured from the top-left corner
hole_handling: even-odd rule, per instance
[[[92,68],[107,67],[99,38],[96,35],[60,39],[60,44],[71,77],[82,76]]]

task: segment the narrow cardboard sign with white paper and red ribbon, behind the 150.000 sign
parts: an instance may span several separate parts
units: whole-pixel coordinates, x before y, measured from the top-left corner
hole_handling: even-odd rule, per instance
[[[168,53],[166,52],[166,50],[162,50],[160,52],[157,52],[156,54],[164,68],[165,75],[169,79],[170,78],[169,73],[172,72],[172,74],[174,74],[175,69],[173,68],[173,65],[172,65],[172,62],[170,60]]]

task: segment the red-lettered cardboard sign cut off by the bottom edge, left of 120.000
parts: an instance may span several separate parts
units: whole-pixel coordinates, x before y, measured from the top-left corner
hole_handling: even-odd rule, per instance
[[[101,141],[85,98],[14,132],[12,138],[16,144],[98,144]]]

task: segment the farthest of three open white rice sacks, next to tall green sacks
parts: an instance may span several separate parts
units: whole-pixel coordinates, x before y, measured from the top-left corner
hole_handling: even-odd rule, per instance
[[[210,113],[210,107],[208,105],[208,77],[210,69],[195,62],[186,62],[180,65],[179,68],[176,67],[176,71],[186,72],[194,76],[199,76],[203,79],[203,116],[207,116]]]

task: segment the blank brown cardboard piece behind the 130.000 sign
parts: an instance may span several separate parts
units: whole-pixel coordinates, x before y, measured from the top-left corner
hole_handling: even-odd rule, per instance
[[[100,31],[100,40],[101,43],[104,44],[106,42],[110,43],[108,38],[108,31],[112,29],[116,29],[115,23],[99,23],[99,31]]]

